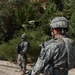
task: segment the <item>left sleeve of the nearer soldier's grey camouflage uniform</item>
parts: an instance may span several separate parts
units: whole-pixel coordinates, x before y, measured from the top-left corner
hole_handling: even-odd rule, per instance
[[[46,48],[41,49],[37,62],[32,69],[31,75],[40,73],[40,71],[44,68],[44,66],[50,61],[50,59],[53,56],[53,51],[54,51],[52,47],[53,47],[52,45],[49,45]]]

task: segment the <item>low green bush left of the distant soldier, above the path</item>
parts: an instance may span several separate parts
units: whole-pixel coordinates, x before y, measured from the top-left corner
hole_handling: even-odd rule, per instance
[[[6,59],[13,61],[16,58],[16,46],[19,41],[19,37],[10,40],[8,43],[4,43],[0,46],[0,59]]]

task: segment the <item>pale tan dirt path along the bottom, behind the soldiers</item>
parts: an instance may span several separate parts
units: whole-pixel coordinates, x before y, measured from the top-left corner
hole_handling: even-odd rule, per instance
[[[32,64],[27,64],[27,71],[31,70]],[[0,60],[0,75],[21,75],[20,68],[11,62]],[[75,68],[69,71],[68,75],[75,75]]]

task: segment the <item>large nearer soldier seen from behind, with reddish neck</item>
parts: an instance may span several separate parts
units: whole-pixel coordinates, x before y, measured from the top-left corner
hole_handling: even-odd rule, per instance
[[[65,17],[56,17],[50,24],[52,39],[41,46],[41,52],[29,75],[68,75],[75,64],[71,39],[65,37],[69,24]]]

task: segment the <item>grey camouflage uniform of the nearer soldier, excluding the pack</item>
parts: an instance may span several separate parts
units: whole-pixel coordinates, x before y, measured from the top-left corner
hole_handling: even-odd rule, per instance
[[[49,40],[42,45],[40,56],[32,71],[40,73],[44,69],[44,75],[67,75],[66,49],[62,38],[63,36]]]

